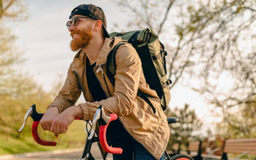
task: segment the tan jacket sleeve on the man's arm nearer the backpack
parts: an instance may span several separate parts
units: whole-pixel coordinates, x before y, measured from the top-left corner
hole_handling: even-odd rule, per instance
[[[96,109],[100,105],[104,106],[104,111],[107,114],[128,115],[137,96],[141,72],[140,57],[132,45],[124,44],[120,46],[116,51],[114,96],[99,102],[79,104],[83,109],[84,119],[92,120]],[[104,76],[107,75],[104,74]]]

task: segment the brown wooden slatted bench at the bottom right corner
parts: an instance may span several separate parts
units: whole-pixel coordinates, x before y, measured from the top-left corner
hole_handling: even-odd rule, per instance
[[[204,157],[204,160],[206,160],[207,157],[209,157],[213,153],[213,151],[217,150],[223,150],[223,155],[221,157],[221,159],[223,160],[228,160],[228,153],[240,154],[236,157],[236,159],[239,159],[246,154],[256,155],[256,138],[225,140],[222,148],[216,148],[212,150],[212,152]]]

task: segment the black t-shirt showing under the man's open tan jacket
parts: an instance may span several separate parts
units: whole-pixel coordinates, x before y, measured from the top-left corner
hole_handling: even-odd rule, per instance
[[[96,77],[93,68],[95,67],[96,62],[90,66],[89,60],[86,60],[86,78],[89,90],[92,94],[92,98],[94,101],[106,100],[106,93],[103,91],[100,86],[100,82]]]

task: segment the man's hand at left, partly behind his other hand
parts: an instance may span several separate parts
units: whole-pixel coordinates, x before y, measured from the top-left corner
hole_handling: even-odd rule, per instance
[[[40,125],[44,131],[50,131],[51,130],[51,125],[52,125],[52,120],[56,118],[59,115],[59,109],[58,107],[51,107],[48,108],[40,120]],[[56,137],[58,135],[55,135]]]

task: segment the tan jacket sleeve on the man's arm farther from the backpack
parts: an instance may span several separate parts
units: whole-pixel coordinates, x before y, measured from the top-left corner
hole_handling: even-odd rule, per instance
[[[59,95],[54,99],[54,101],[47,107],[56,106],[59,108],[59,113],[63,112],[66,108],[74,106],[78,98],[80,97],[82,88],[80,86],[75,72],[72,71],[72,63],[68,68],[68,76],[66,78],[65,84],[59,92]]]

